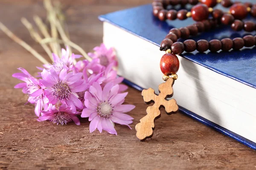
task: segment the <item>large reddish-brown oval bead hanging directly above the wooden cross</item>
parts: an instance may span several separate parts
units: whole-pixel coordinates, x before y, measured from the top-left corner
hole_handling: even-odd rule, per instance
[[[164,75],[171,75],[177,73],[180,67],[180,62],[175,54],[164,54],[160,60],[160,68]]]

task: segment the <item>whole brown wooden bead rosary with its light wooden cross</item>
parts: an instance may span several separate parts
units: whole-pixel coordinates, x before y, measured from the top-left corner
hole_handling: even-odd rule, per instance
[[[199,1],[199,2],[198,2]],[[174,9],[167,10],[168,6],[176,6],[180,4],[185,6],[186,4],[195,5],[191,8],[191,11],[181,9],[176,11]],[[199,4],[198,4],[199,3]],[[224,13],[220,9],[212,9],[218,3],[221,3],[223,7],[229,8],[227,13]],[[198,4],[198,5],[196,5]],[[199,51],[205,52],[210,50],[217,52],[219,50],[229,51],[230,49],[239,50],[243,47],[252,47],[256,45],[256,36],[246,35],[243,38],[237,37],[231,40],[230,38],[224,38],[222,40],[186,40],[184,42],[177,42],[177,39],[188,39],[189,36],[195,36],[200,32],[209,31],[218,25],[231,25],[231,28],[235,31],[251,32],[256,30],[256,24],[252,21],[242,20],[247,17],[247,14],[256,17],[256,4],[252,3],[233,3],[231,0],[154,0],[152,3],[153,15],[158,17],[159,20],[185,20],[188,17],[192,17],[197,21],[193,25],[172,28],[169,34],[160,44],[160,51],[166,51],[166,54],[160,59],[160,68],[163,72],[163,82],[159,85],[158,89],[160,94],[156,95],[154,89],[149,88],[142,91],[142,96],[146,104],[154,103],[146,110],[147,115],[140,119],[135,127],[137,131],[137,138],[144,141],[147,138],[153,136],[154,122],[160,118],[160,108],[165,108],[167,114],[177,113],[178,105],[175,99],[166,100],[173,95],[172,86],[177,79],[177,71],[179,70],[180,62],[176,56],[186,52]],[[211,14],[211,17],[209,17]]]

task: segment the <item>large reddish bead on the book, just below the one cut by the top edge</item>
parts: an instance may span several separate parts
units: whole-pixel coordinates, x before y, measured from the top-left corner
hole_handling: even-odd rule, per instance
[[[204,4],[198,4],[191,8],[192,18],[195,21],[207,20],[209,17],[208,7]]]

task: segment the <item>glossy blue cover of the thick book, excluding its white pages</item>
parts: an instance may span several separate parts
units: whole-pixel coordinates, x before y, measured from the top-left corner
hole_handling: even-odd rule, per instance
[[[152,15],[151,4],[105,14],[100,16],[99,19],[122,28],[123,30],[157,46],[160,46],[161,41],[171,28],[180,28],[194,23],[191,18],[184,21],[175,20],[162,22]],[[254,18],[250,17],[248,17],[246,20],[256,21]],[[233,31],[230,26],[220,26],[211,31],[199,34],[198,36],[191,37],[191,39],[204,39],[208,41],[212,39],[221,40],[227,37],[231,39],[235,37],[243,37],[247,34],[255,34],[255,31],[252,33],[245,31],[237,32]],[[179,39],[178,41],[184,40]],[[256,88],[255,47],[244,48],[240,51],[220,51],[218,53],[212,53],[210,51],[205,53],[199,53],[198,51],[194,51],[192,53],[184,52],[183,54],[180,54],[180,56],[211,71],[247,85],[250,88]],[[129,82],[128,80],[125,80],[125,83],[131,85],[134,88],[137,88],[138,90],[143,90],[143,88],[132,82]],[[215,130],[220,131],[221,133],[224,133],[227,136],[230,136],[239,142],[252,147],[253,149],[256,149],[256,143],[245,139],[244,137],[239,136],[236,133],[233,133],[230,130],[227,130],[226,128],[221,127],[201,116],[198,116],[196,113],[193,113],[186,108],[180,107],[180,111],[191,116],[193,119],[213,127]]]

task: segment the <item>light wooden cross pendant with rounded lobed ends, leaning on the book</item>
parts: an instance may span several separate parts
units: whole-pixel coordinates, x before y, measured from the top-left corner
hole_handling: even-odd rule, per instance
[[[166,82],[158,86],[160,94],[157,96],[154,93],[154,89],[149,88],[148,90],[142,91],[142,96],[146,104],[154,102],[154,105],[148,106],[146,112],[147,115],[140,119],[135,127],[137,133],[136,136],[141,141],[144,141],[147,138],[153,136],[154,130],[154,121],[161,117],[160,108],[165,108],[165,111],[168,115],[178,111],[178,105],[175,99],[166,100],[169,97],[172,97],[173,89],[172,85],[174,84],[174,79],[169,78]]]

